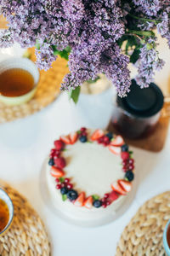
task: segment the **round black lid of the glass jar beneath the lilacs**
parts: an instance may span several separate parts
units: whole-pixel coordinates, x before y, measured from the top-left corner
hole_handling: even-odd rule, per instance
[[[133,79],[130,92],[126,97],[117,96],[118,105],[136,117],[147,118],[158,113],[163,106],[163,94],[159,87],[151,83],[150,87],[140,89]]]

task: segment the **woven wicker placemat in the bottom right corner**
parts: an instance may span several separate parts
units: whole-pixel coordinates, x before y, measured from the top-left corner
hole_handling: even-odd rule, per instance
[[[170,191],[146,201],[122,232],[116,256],[166,255],[162,236],[170,218]]]

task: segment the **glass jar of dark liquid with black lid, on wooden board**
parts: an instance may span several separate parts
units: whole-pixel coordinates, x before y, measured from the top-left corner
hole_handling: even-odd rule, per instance
[[[140,89],[135,80],[132,80],[130,89],[126,97],[116,96],[111,125],[129,139],[147,137],[156,128],[164,96],[154,83],[148,88]]]

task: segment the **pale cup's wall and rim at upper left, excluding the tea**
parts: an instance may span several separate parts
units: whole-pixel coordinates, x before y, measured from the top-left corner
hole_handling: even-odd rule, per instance
[[[32,90],[30,90],[28,93],[22,96],[3,96],[0,95],[0,101],[9,105],[9,106],[15,106],[15,105],[20,105],[23,103],[26,103],[31,100],[31,98],[35,95],[36,90],[37,90],[37,84],[39,81],[39,71],[31,60],[27,58],[8,58],[5,61],[0,62],[0,74],[5,72],[8,69],[12,68],[21,68],[26,70],[27,72],[31,73],[32,78],[34,79],[34,86]]]

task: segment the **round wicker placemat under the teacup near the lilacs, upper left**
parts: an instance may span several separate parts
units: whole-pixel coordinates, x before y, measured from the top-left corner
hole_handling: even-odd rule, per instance
[[[29,49],[27,54],[31,56],[32,61],[36,61],[34,49]],[[47,72],[40,71],[37,93],[30,102],[12,107],[0,102],[0,124],[24,118],[54,102],[54,99],[59,96],[60,84],[66,73],[68,73],[67,61],[58,57]]]

